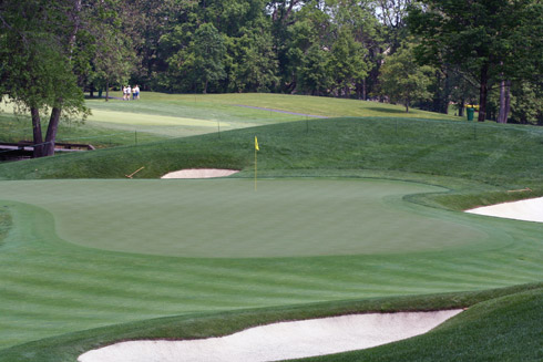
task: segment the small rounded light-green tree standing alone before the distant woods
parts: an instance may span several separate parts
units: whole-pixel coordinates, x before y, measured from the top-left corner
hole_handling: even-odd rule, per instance
[[[401,103],[409,112],[412,102],[430,100],[428,91],[434,69],[420,66],[412,53],[412,48],[400,48],[393,55],[387,56],[381,66],[381,94],[395,103]]]

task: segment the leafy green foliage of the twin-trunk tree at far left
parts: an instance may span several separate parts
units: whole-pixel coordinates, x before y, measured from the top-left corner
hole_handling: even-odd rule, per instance
[[[45,7],[40,1],[17,1],[2,6],[3,27],[0,28],[0,77],[4,94],[24,111],[50,110],[63,103],[66,113],[86,110],[83,93],[76,85],[70,54],[66,13],[58,13],[57,2]],[[43,25],[41,18],[55,23]],[[8,81],[9,80],[9,81]]]

